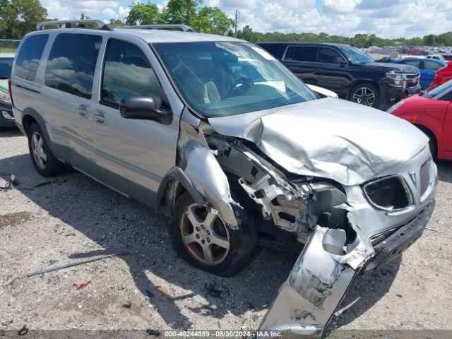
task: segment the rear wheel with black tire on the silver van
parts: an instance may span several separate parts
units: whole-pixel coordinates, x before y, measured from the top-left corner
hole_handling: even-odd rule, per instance
[[[36,172],[42,177],[55,177],[62,174],[65,166],[52,154],[40,125],[37,123],[31,124],[27,133],[28,149]]]

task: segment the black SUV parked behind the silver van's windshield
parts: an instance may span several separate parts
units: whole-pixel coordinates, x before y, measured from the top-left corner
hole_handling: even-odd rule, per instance
[[[259,43],[302,81],[338,93],[341,99],[386,109],[420,92],[419,70],[375,62],[346,44]]]

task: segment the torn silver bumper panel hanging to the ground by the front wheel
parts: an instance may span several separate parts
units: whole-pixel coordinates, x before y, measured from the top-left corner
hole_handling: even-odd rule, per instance
[[[354,267],[351,267],[345,256],[334,254],[343,246],[345,238],[338,230],[329,231],[331,229],[316,226],[259,330],[278,331],[284,338],[321,338],[323,328],[358,268],[374,253],[354,254],[354,251],[359,252],[358,246],[347,254],[353,261]],[[335,250],[331,251],[333,248]]]

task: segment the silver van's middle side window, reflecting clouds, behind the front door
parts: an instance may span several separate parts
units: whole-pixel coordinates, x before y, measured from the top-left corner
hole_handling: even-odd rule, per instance
[[[90,99],[101,42],[102,37],[98,35],[58,35],[47,61],[45,84]]]

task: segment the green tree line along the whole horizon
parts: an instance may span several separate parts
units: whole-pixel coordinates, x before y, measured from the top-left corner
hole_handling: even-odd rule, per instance
[[[88,18],[81,13],[81,18]],[[47,10],[39,0],[0,0],[0,38],[23,37],[36,28],[36,24],[47,20]],[[255,32],[246,25],[237,30],[237,16],[232,19],[218,7],[204,6],[203,0],[169,0],[165,7],[148,2],[133,4],[125,20],[111,19],[112,27],[146,24],[184,24],[196,32],[229,35],[249,42],[330,42],[353,44],[356,47],[371,46],[452,46],[452,32],[440,35],[425,35],[407,39],[385,39],[376,35],[356,34],[353,37],[319,34],[311,32]]]

